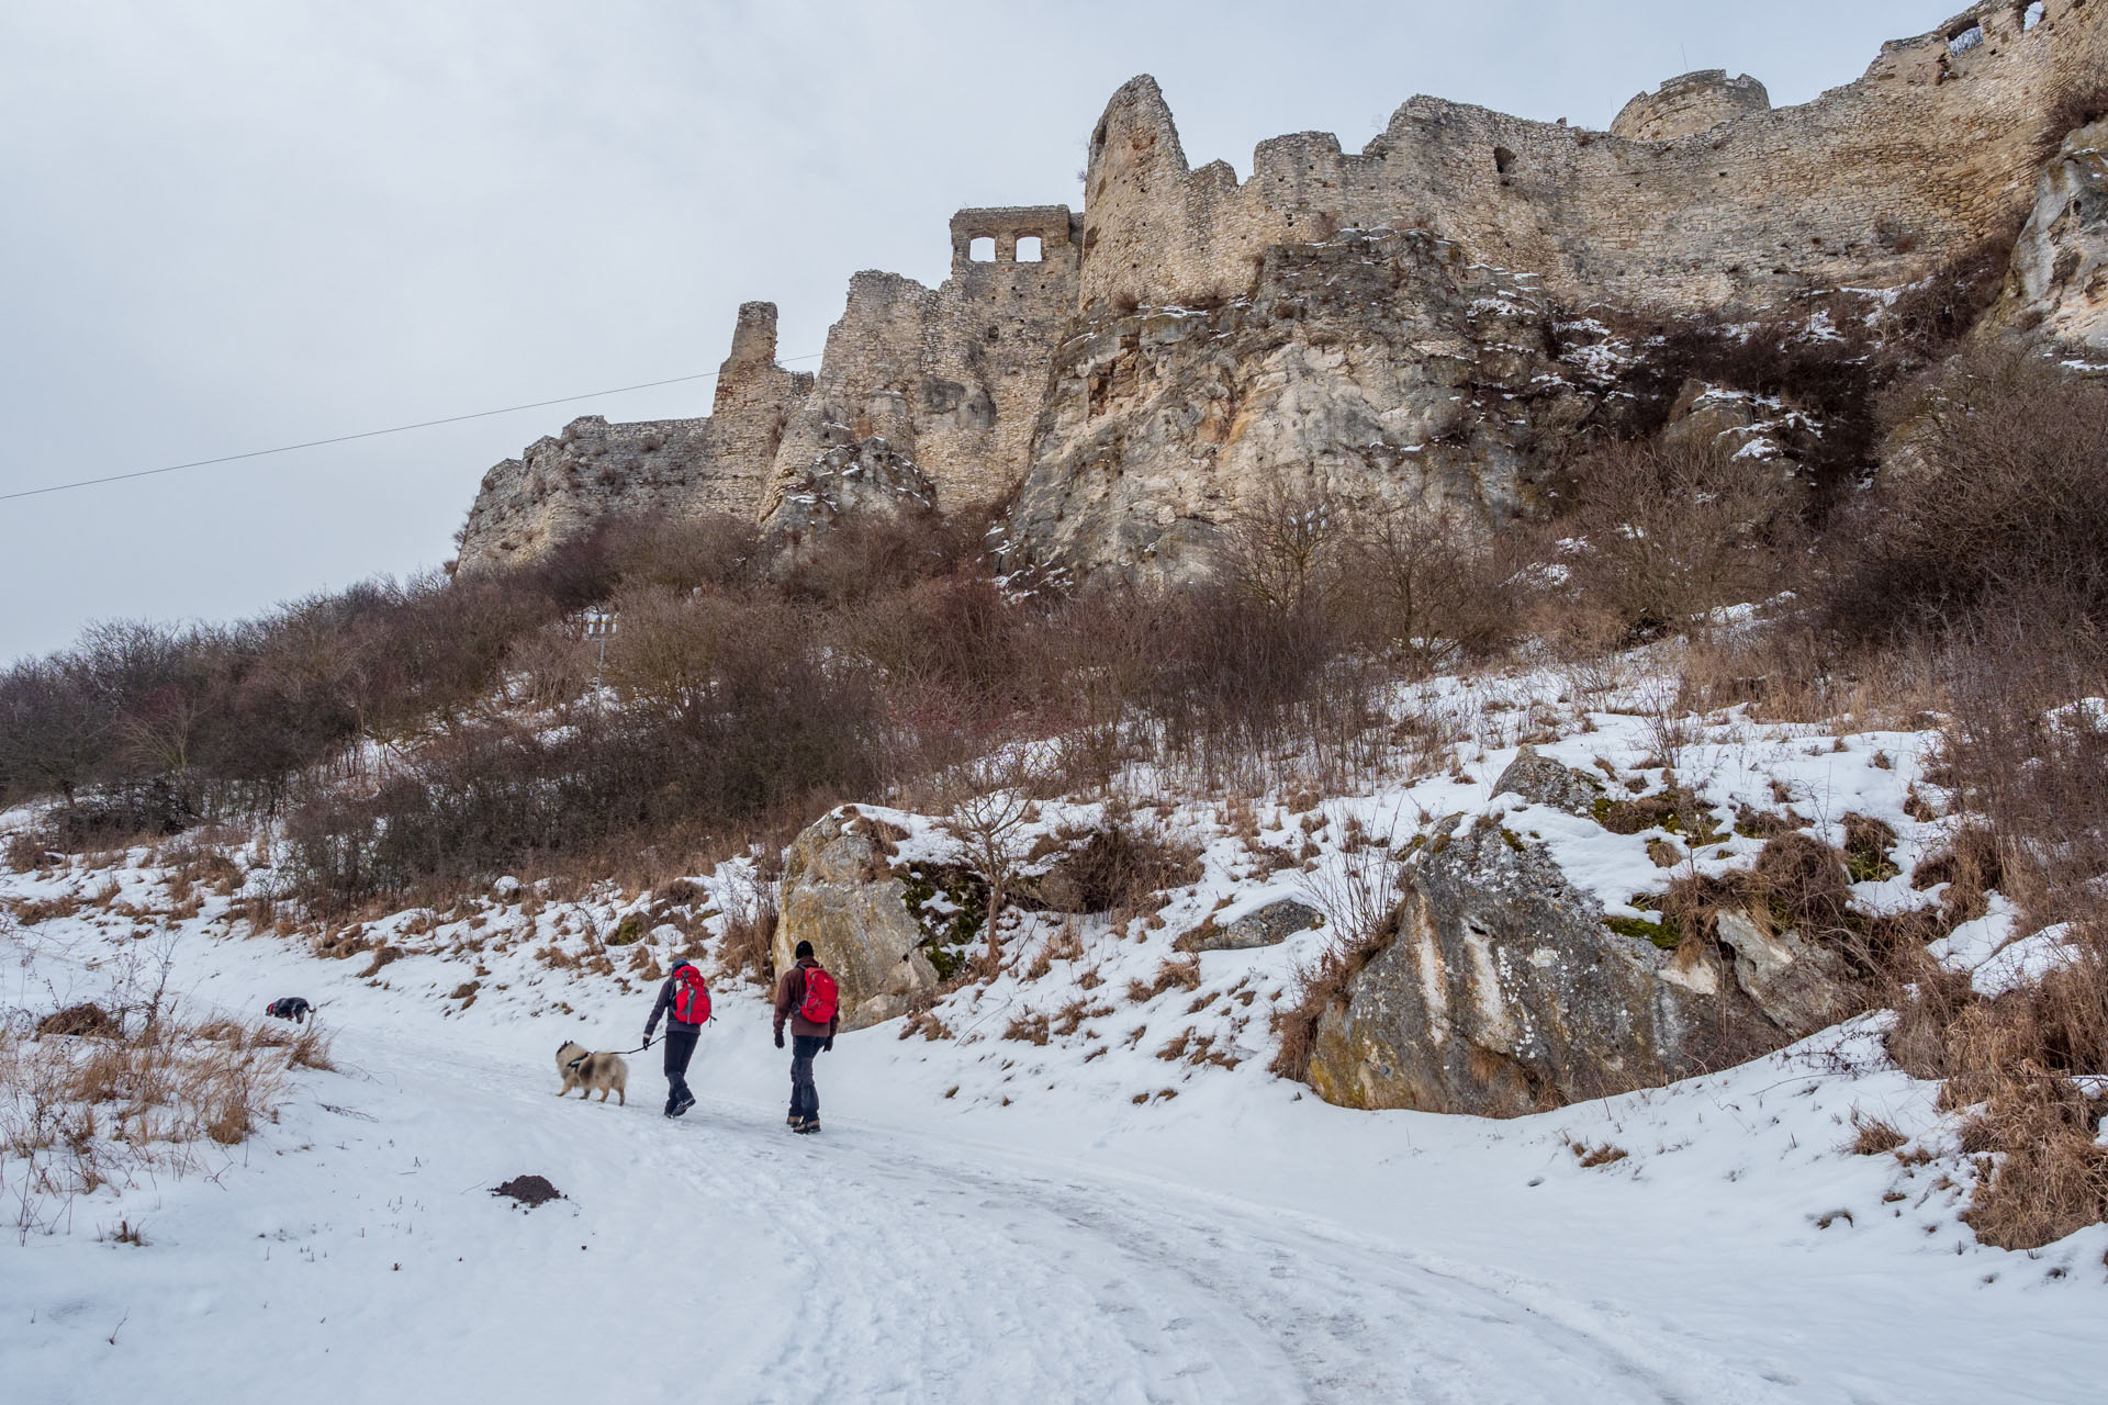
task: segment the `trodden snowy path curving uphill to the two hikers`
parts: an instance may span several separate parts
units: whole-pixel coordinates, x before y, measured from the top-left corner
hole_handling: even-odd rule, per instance
[[[668,1125],[649,1055],[639,1102],[603,1108],[460,1047],[339,1049],[369,1095],[301,1108],[312,1150],[150,1213],[150,1249],[46,1264],[78,1281],[0,1338],[30,1386],[11,1399],[1773,1399],[1221,1196],[841,1119],[799,1140],[723,1100]],[[569,1199],[510,1211],[493,1165]]]

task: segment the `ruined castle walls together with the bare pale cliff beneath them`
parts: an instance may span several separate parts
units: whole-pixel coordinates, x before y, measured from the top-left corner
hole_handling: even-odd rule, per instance
[[[1551,308],[1880,295],[2026,223],[1992,326],[2102,345],[2100,128],[2062,150],[2051,128],[2104,88],[2108,4],[1986,0],[1798,107],[1724,72],[1640,95],[1608,133],[1414,97],[1362,152],[1275,137],[1240,181],[1187,164],[1140,76],[1092,133],[1081,215],[959,211],[951,276],[856,274],[812,377],[776,364],[776,310],[748,303],[708,419],[535,442],[485,476],[460,562],[533,560],[624,514],[767,527],[873,440],[942,510],[1014,493],[1022,556],[1084,575],[1204,575],[1273,482],[1497,527],[1573,426],[1615,411]]]

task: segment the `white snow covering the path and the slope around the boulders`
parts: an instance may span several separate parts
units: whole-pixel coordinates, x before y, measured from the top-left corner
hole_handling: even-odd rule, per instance
[[[1332,1108],[1265,1070],[1265,1013],[1322,931],[1208,952],[1197,984],[1153,988],[1178,931],[1309,895],[1355,830],[1395,815],[1402,836],[1421,815],[1501,809],[1613,906],[1672,876],[1644,834],[1495,798],[1501,741],[1467,739],[1455,771],[1414,786],[1301,815],[1261,805],[1256,834],[1212,807],[1168,815],[1208,872],[1159,927],[1086,923],[1079,956],[1033,973],[1035,944],[1062,937],[1043,921],[1010,973],[938,1007],[949,1038],[898,1022],[843,1036],[820,1060],[820,1137],[786,1133],[786,1055],[761,996],[723,982],[687,1119],[658,1114],[656,1051],[630,1057],[626,1108],[552,1097],[563,1038],[639,1043],[651,990],[628,963],[679,933],[607,952],[599,975],[544,952],[599,950],[632,899],[396,914],[371,935],[407,954],[371,973],[242,935],[223,897],[0,933],[8,1007],[91,994],[131,933],[175,931],[192,1013],[306,994],[337,1060],[297,1074],[280,1121],[215,1173],[139,1178],[0,1243],[4,1399],[2100,1399],[2108,1226],[2038,1253],[1979,1247],[1956,1220],[1954,1119],[1887,1066],[1878,1017],[1486,1123]],[[1627,712],[1543,750],[1640,775],[1659,741],[1659,718]],[[1815,826],[1891,822],[1908,874],[1946,824],[1904,811],[1925,741],[1731,718],[1676,744],[1722,817],[1783,809],[1777,781]],[[1318,870],[1254,862],[1288,845],[1311,845]],[[1754,843],[1705,849],[1689,864]],[[118,876],[152,910],[162,874]],[[4,874],[0,895],[105,880]],[[723,906],[740,880],[727,864],[698,883]],[[1855,895],[1929,897],[1906,876]],[[2009,927],[1994,912],[1958,931],[1952,958],[1992,961]],[[1866,1116],[1912,1137],[1906,1154],[1853,1154]],[[565,1199],[521,1211],[489,1194],[521,1173]],[[145,1245],[97,1234],[120,1218]]]

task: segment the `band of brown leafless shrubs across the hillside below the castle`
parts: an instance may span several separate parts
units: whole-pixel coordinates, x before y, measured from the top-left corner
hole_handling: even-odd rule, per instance
[[[1908,805],[1958,817],[1960,838],[1920,885],[1944,883],[1941,902],[1882,929],[1866,975],[1899,1011],[1891,1055],[1944,1081],[1988,1159],[1979,1236],[2038,1245],[2108,1213],[2093,1095],[2108,1076],[2108,388],[1973,350],[1866,413],[1880,472],[1863,491],[1811,493],[1762,455],[1667,430],[1581,440],[1551,520],[1497,537],[1284,487],[1233,522],[1221,577],[1185,592],[1001,575],[995,514],[957,512],[845,525],[788,567],[729,520],[616,525],[502,575],[375,581],[226,628],[99,626],[0,676],[0,798],[32,805],[8,859],[95,868],[177,834],[261,832],[278,857],[238,916],[320,942],[455,908],[500,874],[664,891],[736,859],[759,887],[793,834],[847,800],[968,819],[993,794],[1092,803],[1094,824],[1147,851],[1162,843],[1147,826],[1105,815],[1307,811],[1589,729],[1589,701],[1613,695],[1651,718],[1653,756],[1636,760],[1667,796],[1678,756],[1726,716],[1931,733]],[[620,619],[605,659],[588,607]],[[1640,701],[1606,682],[1634,649],[1661,685]],[[1516,670],[1566,682],[1499,737],[1412,701],[1425,680]],[[1836,862],[1878,868],[1889,845],[1870,859],[1847,840]],[[993,868],[974,878],[1001,908]],[[1176,870],[1134,859],[1109,906],[1149,916]],[[1703,883],[1682,893],[1667,912],[1686,902],[1703,942]],[[1927,944],[1984,916],[1986,893],[2013,904],[2019,933],[2062,925],[2070,958],[1996,992],[1941,967]],[[1381,923],[1372,902],[1343,912]],[[765,904],[740,921],[719,921],[719,958],[765,973]],[[1301,1007],[1282,1003],[1269,1038],[1290,1074],[1294,1009],[1330,998],[1366,935],[1351,925],[1334,923]],[[1006,931],[989,921],[984,956],[946,990],[1016,979]]]

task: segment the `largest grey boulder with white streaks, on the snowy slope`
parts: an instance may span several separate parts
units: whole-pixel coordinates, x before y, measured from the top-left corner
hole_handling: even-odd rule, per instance
[[[1395,933],[1318,1022],[1326,1102],[1518,1116],[1790,1038],[1712,944],[1613,931],[1541,845],[1492,822],[1425,847],[1404,883]]]

